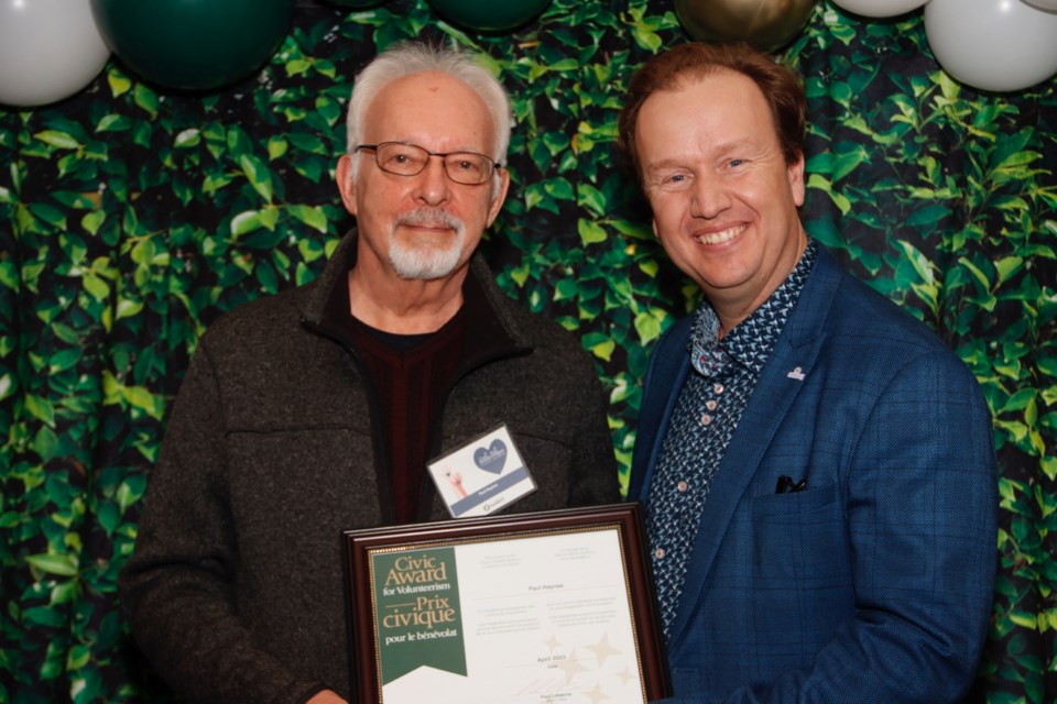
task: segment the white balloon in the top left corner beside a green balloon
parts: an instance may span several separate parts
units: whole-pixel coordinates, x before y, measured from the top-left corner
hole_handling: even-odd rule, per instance
[[[62,100],[109,57],[89,0],[0,0],[0,103]]]

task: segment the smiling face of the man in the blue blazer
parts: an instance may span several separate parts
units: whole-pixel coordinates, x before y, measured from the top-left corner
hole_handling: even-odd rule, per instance
[[[803,156],[786,164],[763,94],[726,70],[650,96],[635,145],[668,256],[721,318],[744,318],[806,245]]]

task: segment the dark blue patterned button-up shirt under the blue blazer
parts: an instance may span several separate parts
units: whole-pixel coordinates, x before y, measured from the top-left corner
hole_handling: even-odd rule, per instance
[[[722,340],[711,306],[701,304],[696,314],[689,344],[694,369],[665,432],[647,502],[646,530],[665,636],[712,477],[817,254],[818,245],[809,239],[786,280]]]

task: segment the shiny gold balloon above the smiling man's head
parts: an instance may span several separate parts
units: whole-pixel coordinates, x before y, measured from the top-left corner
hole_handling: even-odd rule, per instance
[[[747,42],[762,52],[788,44],[815,0],[675,0],[675,13],[699,42]]]

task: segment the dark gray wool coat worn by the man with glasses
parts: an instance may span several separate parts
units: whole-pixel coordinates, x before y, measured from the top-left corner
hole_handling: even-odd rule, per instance
[[[331,323],[355,253],[346,235],[316,282],[211,326],[173,406],[119,585],[138,645],[188,701],[348,696],[339,537],[392,522],[373,391]],[[577,339],[508,299],[479,256],[468,285],[483,315],[431,455],[505,422],[538,487],[509,513],[618,501],[606,399]],[[422,515],[449,518],[424,484]]]

